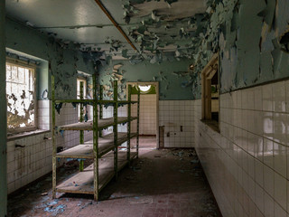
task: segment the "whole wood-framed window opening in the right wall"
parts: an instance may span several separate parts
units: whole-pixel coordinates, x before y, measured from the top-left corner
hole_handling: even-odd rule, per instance
[[[219,130],[219,61],[215,54],[201,71],[201,118]]]

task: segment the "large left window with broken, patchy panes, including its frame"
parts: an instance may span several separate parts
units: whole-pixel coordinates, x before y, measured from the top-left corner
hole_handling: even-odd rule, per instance
[[[35,129],[35,67],[20,61],[6,61],[8,132]]]

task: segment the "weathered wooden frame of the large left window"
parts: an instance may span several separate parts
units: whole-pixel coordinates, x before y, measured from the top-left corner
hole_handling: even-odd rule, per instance
[[[5,65],[6,64],[10,64],[10,65],[14,65],[16,67],[23,67],[29,70],[33,70],[33,80],[34,80],[34,97],[33,97],[33,101],[34,101],[34,124],[33,126],[28,126],[28,127],[17,127],[17,128],[9,128],[8,127],[8,120],[7,120],[7,134],[18,134],[18,133],[24,133],[24,132],[31,132],[34,130],[38,129],[38,118],[37,118],[37,114],[38,114],[38,107],[37,107],[37,96],[36,96],[36,87],[37,87],[37,80],[36,80],[36,64],[33,63],[28,63],[26,61],[21,61],[21,60],[17,60],[11,57],[6,57],[6,61],[5,61]],[[6,74],[6,71],[5,71]],[[5,84],[6,84],[6,79],[5,79]],[[6,87],[5,87],[5,91],[6,91]],[[6,99],[7,100],[7,99]],[[6,109],[7,109],[7,105],[6,105]]]

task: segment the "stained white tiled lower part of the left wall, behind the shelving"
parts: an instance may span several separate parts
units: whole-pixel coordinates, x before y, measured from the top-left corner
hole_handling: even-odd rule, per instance
[[[51,101],[38,101],[38,126],[51,129]],[[90,113],[90,112],[89,112]],[[89,116],[90,117],[90,116]],[[78,111],[71,104],[64,104],[61,114],[56,113],[56,126],[78,121]],[[27,136],[7,143],[7,176],[8,193],[29,184],[51,172],[52,143],[51,132],[36,136]],[[92,139],[92,132],[85,132],[85,140]],[[78,131],[64,131],[56,135],[57,146],[70,147],[79,144]],[[15,145],[24,147],[15,147]],[[61,164],[62,162],[60,162]]]

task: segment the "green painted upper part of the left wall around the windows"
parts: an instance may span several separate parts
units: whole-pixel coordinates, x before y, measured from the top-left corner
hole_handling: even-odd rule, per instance
[[[7,48],[42,59],[41,68],[38,69],[43,75],[39,80],[39,98],[42,91],[51,86],[51,74],[55,76],[56,97],[71,99],[76,98],[77,71],[95,73],[92,56],[86,52],[79,52],[73,43],[64,45],[46,34],[8,18],[5,22],[5,31]]]

